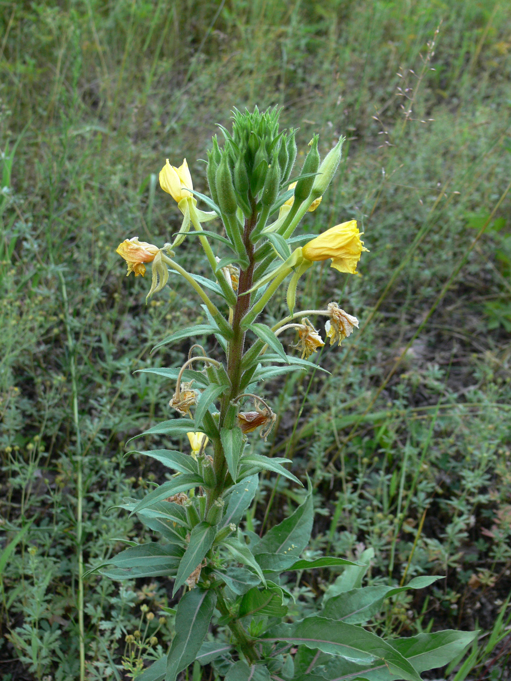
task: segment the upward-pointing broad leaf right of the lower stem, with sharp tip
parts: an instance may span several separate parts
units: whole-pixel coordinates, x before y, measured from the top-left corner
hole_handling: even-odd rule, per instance
[[[254,547],[254,554],[283,554],[298,558],[311,537],[313,516],[312,488],[309,481],[309,491],[303,504],[289,518],[268,530]]]

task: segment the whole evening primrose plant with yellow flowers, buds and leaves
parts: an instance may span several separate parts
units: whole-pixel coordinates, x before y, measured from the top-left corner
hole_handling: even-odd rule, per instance
[[[169,577],[172,596],[180,595],[170,650],[140,678],[175,681],[194,663],[195,679],[198,661],[228,681],[419,681],[421,671],[451,661],[474,635],[442,631],[386,641],[361,625],[374,618],[384,599],[438,577],[362,588],[371,550],[358,563],[300,558],[313,525],[308,480],[302,503],[288,518],[261,537],[243,528],[262,471],[303,487],[285,468],[288,459],[255,454],[247,446],[258,434],[266,439],[275,422],[260,385],[290,371],[318,368],[309,358],[325,345],[324,338],[339,345],[358,327],[356,317],[336,301],[300,310],[300,276],[328,259],[339,272],[355,274],[367,249],[354,220],[315,238],[295,234],[305,213],[320,205],[339,165],[343,138],[321,161],[314,136],[301,170],[294,171],[296,131],[279,130],[278,110],[235,110],[232,132],[223,127],[221,132],[223,144],[215,136],[208,153],[211,197],[193,189],[186,159],[179,167],[167,160],[159,174],[161,189],[183,214],[174,240],[158,247],[134,237],[117,249],[128,274],[144,276],[151,264],[148,297],[167,285],[172,270],[200,299],[206,323],[179,330],[159,345],[213,336],[224,354],[222,360],[213,358],[196,343],[181,367],[144,369],[175,381],[169,405],[176,417],[142,434],[187,436],[189,448],[141,452],[174,474],[123,507],[161,539],[131,545],[104,569],[116,580]],[[199,202],[208,210],[200,210]],[[209,222],[213,229],[203,227]],[[190,238],[199,241],[209,276],[180,264],[179,247]],[[288,314],[270,327],[263,314],[280,287],[287,291]],[[325,336],[311,321],[318,317],[326,321]],[[290,607],[289,576],[339,567],[343,572],[318,603],[317,614],[292,618],[288,613],[296,606]]]

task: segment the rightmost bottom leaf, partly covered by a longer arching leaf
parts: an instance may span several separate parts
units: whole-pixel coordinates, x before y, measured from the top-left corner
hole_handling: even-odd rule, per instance
[[[463,652],[477,635],[477,631],[436,631],[409,638],[392,639],[392,648],[400,652],[420,673],[448,664],[456,655]],[[382,660],[360,664],[335,658],[326,663],[324,670],[326,678],[331,681],[354,681],[360,676],[369,681],[396,681],[402,678],[390,670]],[[305,676],[302,681],[306,681]]]

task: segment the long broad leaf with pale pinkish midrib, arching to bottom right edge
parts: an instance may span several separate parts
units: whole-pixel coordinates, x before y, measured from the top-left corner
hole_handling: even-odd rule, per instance
[[[294,624],[279,624],[260,635],[260,638],[268,642],[285,641],[319,648],[360,665],[383,663],[404,681],[421,681],[412,664],[400,652],[384,639],[354,624],[312,616]]]

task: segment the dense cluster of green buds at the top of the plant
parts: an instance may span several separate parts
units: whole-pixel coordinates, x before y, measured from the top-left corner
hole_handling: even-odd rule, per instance
[[[278,108],[260,113],[255,107],[243,114],[235,109],[232,133],[221,127],[223,147],[213,138],[207,177],[223,215],[233,215],[237,206],[247,217],[268,208],[288,183],[296,159],[296,130],[279,131],[279,114]]]

